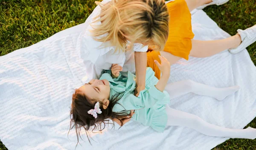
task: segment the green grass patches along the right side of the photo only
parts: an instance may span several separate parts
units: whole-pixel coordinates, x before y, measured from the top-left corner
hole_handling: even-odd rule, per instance
[[[209,17],[227,33],[234,35],[236,30],[256,24],[256,0],[230,0],[223,6],[209,6],[204,9]],[[256,65],[256,43],[247,48]],[[246,127],[256,127],[256,119]],[[256,140],[230,139],[219,144],[213,150],[256,150]]]

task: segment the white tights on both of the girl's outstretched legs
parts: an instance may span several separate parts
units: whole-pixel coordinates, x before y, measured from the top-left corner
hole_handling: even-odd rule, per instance
[[[239,86],[229,88],[214,88],[204,85],[192,80],[183,80],[166,85],[165,89],[170,98],[173,99],[177,96],[192,92],[198,95],[210,96],[221,101],[228,95],[235,93],[239,90]],[[166,105],[166,112],[168,115],[168,126],[185,126],[190,127],[198,132],[207,136],[227,137],[227,138],[240,138],[240,139],[255,139],[256,129],[248,127],[247,129],[230,129],[219,127],[205,122],[200,117],[191,113],[186,113],[180,110],[175,110]]]

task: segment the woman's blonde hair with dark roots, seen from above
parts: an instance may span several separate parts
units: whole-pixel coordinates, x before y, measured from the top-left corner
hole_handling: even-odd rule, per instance
[[[169,34],[169,14],[164,0],[111,0],[96,4],[101,7],[101,13],[91,24],[90,32],[95,40],[110,41],[107,46],[115,46],[116,51],[125,51],[128,40],[163,50]],[[96,22],[101,24],[93,25]]]

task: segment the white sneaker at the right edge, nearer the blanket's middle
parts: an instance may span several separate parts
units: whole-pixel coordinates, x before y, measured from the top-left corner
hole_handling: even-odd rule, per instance
[[[256,25],[245,30],[238,29],[237,34],[241,37],[241,44],[237,48],[230,48],[231,54],[237,54],[256,41]]]

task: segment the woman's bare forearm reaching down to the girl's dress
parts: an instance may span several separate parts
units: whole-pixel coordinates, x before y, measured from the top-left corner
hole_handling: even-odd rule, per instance
[[[147,69],[147,52],[134,52],[135,71],[136,71],[136,89],[135,96],[139,96],[140,91],[145,89],[146,69]]]

